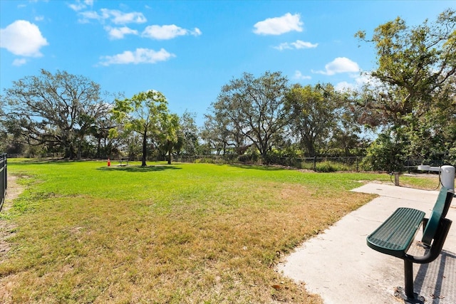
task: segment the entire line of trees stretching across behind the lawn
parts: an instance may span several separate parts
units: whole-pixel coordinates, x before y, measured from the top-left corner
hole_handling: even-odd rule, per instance
[[[244,73],[224,85],[197,127],[165,96],[102,92],[66,71],[14,81],[0,98],[0,150],[69,159],[229,155],[274,163],[277,157],[367,156],[368,169],[395,159],[445,154],[456,162],[456,14],[409,27],[400,18],[356,33],[372,45],[377,68],[357,90],[330,83],[290,84],[281,72]],[[375,134],[375,137],[367,136]],[[375,159],[375,160],[373,160]]]

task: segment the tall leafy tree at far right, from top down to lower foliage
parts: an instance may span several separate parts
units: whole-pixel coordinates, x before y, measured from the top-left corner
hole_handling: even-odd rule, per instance
[[[375,28],[371,39],[365,31],[356,36],[373,43],[378,61],[374,85],[366,85],[358,100],[360,122],[382,126],[400,154],[430,157],[454,150],[455,11],[414,27],[397,18]]]

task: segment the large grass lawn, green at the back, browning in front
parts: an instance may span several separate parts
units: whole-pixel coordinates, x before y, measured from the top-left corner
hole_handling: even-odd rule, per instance
[[[9,159],[1,303],[321,303],[275,271],[388,174]]]

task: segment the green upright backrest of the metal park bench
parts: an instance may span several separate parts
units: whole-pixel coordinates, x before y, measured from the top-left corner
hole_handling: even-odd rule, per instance
[[[440,223],[440,219],[444,219],[447,216],[448,209],[450,209],[450,204],[453,198],[452,192],[448,192],[448,188],[442,187],[437,196],[437,201],[435,202],[434,209],[427,221],[425,226],[425,231],[423,232],[423,243],[427,246],[430,246],[432,239],[435,237],[437,228]]]

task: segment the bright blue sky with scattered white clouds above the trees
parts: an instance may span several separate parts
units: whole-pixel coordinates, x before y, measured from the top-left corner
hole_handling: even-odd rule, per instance
[[[0,0],[0,90],[66,70],[110,93],[165,94],[171,112],[204,113],[242,73],[290,83],[362,83],[375,50],[354,38],[400,16],[435,21],[455,1]]]

